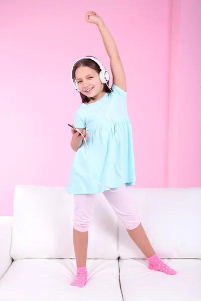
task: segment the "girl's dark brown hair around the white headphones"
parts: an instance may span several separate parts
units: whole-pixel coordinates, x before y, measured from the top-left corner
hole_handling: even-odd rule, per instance
[[[93,57],[95,58],[95,57]],[[89,67],[93,70],[95,70],[98,74],[100,73],[101,69],[99,67],[99,65],[94,62],[93,60],[90,60],[90,59],[81,59],[79,60],[73,67],[73,70],[72,70],[72,78],[75,79],[75,71],[77,68],[79,67]],[[109,85],[109,81],[107,83]],[[107,84],[104,84],[104,91],[105,92],[108,92],[108,93],[111,93],[111,90],[109,89],[109,87],[107,86]],[[82,94],[81,92],[79,92],[80,96],[81,96],[81,99],[82,99],[82,103],[88,103],[90,101],[90,99],[88,99],[87,96],[85,96],[84,94]]]

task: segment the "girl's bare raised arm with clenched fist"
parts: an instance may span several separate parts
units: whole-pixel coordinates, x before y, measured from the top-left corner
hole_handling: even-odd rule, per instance
[[[87,22],[97,25],[99,32],[102,35],[106,51],[110,58],[113,83],[126,92],[126,77],[115,40],[113,39],[110,31],[105,25],[102,17],[97,16],[96,12],[87,12],[85,17]]]

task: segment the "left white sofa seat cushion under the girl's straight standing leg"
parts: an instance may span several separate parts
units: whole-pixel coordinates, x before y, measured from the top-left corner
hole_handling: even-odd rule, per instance
[[[88,259],[83,288],[71,286],[75,259],[14,260],[0,280],[1,301],[122,301],[118,259]]]

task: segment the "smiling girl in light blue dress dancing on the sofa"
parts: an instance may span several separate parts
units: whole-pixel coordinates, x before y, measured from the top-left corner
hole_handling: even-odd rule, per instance
[[[74,195],[73,244],[77,275],[72,286],[87,282],[88,229],[96,193],[103,192],[131,239],[148,259],[148,268],[169,275],[176,271],[155,253],[133,208],[127,186],[135,185],[131,121],[127,112],[127,86],[116,43],[103,19],[87,12],[86,21],[97,26],[110,57],[113,75],[94,57],[81,58],[71,79],[82,104],[74,114],[71,147],[76,152],[66,191]],[[90,35],[87,37],[92,39]],[[84,141],[83,141],[84,140]],[[87,159],[86,159],[87,158]]]

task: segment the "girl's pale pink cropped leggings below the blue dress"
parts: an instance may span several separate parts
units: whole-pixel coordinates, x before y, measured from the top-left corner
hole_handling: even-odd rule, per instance
[[[140,225],[140,221],[137,211],[134,209],[127,185],[123,184],[120,188],[111,190],[119,189],[120,191],[117,192],[106,190],[103,194],[125,227],[128,230],[135,229]],[[95,194],[74,195],[73,227],[75,230],[80,232],[88,231],[93,217],[94,198]]]

